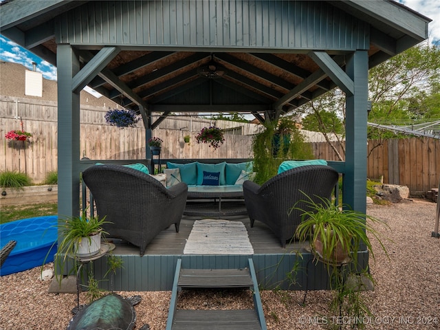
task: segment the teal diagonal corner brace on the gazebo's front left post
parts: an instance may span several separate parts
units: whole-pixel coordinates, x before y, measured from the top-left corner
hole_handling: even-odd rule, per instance
[[[79,93],[91,80],[110,63],[113,58],[120,52],[119,47],[103,47],[83,69],[74,76],[72,82],[72,91]]]

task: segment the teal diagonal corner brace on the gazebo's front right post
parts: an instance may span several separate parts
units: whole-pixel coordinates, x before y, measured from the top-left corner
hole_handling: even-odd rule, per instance
[[[320,66],[322,70],[333,80],[347,96],[354,94],[354,83],[349,76],[333,61],[326,52],[310,52],[309,56]]]

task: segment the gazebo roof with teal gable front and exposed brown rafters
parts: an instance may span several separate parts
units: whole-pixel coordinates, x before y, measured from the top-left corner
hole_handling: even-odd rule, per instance
[[[429,22],[394,1],[12,0],[0,31],[53,65],[57,43],[83,67],[101,51],[87,85],[123,107],[277,118],[340,85],[327,67],[344,70],[347,52],[368,50],[373,67],[426,39]]]

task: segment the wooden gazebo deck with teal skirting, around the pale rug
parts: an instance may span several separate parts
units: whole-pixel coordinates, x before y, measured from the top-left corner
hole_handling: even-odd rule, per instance
[[[186,269],[239,269],[247,267],[248,258],[255,265],[258,283],[263,289],[279,287],[281,289],[326,289],[329,287],[327,271],[320,263],[311,262],[314,257],[307,243],[288,243],[281,248],[281,242],[263,223],[256,221],[254,228],[250,227],[250,219],[245,216],[222,217],[230,221],[241,221],[248,230],[248,236],[254,249],[252,255],[228,254],[184,254],[186,239],[197,219],[209,217],[182,217],[179,232],[174,226],[159,233],[148,244],[144,256],[139,255],[139,249],[133,245],[114,241],[115,256],[122,258],[123,266],[112,276],[111,281],[104,279],[108,270],[107,258],[94,261],[94,276],[102,278],[102,288],[115,291],[169,291],[173,287],[177,259],[181,259],[182,267]],[[211,218],[217,219],[217,218]],[[299,254],[297,253],[299,252]],[[368,262],[368,253],[359,252],[358,259]],[[287,274],[297,268],[296,283],[287,279]]]

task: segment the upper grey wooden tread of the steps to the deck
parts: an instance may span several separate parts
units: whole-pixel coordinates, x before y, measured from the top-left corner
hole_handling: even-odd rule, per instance
[[[251,287],[254,283],[248,268],[241,270],[181,269],[177,286],[190,287]]]

